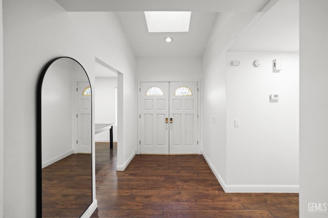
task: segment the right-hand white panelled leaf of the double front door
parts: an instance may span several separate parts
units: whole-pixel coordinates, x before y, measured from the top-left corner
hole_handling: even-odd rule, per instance
[[[198,153],[197,82],[170,83],[170,153]]]

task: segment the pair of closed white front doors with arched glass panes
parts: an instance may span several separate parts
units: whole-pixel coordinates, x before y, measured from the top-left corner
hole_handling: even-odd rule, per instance
[[[197,82],[140,82],[141,154],[198,153]]]

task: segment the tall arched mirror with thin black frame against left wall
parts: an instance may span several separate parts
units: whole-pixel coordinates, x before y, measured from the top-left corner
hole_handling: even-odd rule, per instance
[[[92,203],[91,98],[80,63],[46,64],[37,93],[38,217],[79,217]]]

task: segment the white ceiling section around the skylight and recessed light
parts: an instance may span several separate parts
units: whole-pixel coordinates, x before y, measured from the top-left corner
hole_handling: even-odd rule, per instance
[[[200,57],[211,34],[216,12],[192,12],[189,32],[149,33],[144,12],[117,12],[137,57]],[[164,39],[170,36],[171,43]]]

